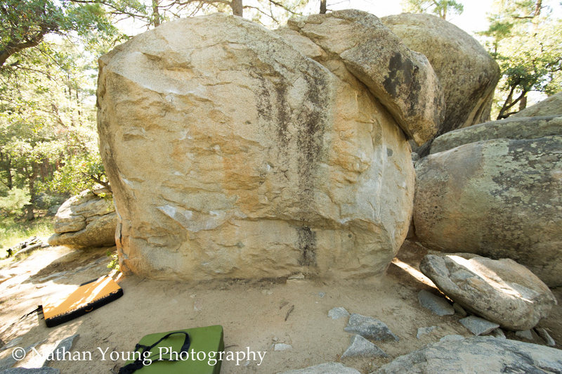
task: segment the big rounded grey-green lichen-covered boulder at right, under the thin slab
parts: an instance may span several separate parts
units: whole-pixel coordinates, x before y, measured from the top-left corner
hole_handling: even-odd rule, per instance
[[[444,252],[510,258],[562,285],[562,136],[493,139],[416,163],[414,226]]]

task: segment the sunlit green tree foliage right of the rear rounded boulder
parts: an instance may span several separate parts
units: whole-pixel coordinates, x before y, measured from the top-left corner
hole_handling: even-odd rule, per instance
[[[530,91],[562,90],[562,20],[536,1],[496,1],[490,27],[481,33],[502,70],[497,86],[497,119],[525,108]]]

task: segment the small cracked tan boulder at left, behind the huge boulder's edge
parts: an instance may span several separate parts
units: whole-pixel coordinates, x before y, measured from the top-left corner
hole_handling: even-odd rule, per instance
[[[50,245],[74,248],[115,245],[117,214],[112,194],[105,189],[83,191],[72,196],[55,214],[55,233]]]

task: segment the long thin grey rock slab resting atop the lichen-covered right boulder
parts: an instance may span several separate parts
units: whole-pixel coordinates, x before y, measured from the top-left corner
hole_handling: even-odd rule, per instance
[[[509,117],[505,120],[475,124],[438,136],[431,143],[430,153],[443,152],[463,144],[490,139],[535,139],[551,135],[562,135],[562,115]]]

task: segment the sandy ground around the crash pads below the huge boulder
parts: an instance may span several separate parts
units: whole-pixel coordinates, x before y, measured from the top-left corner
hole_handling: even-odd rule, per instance
[[[362,373],[378,368],[397,356],[436,342],[445,335],[470,336],[457,321],[459,316],[436,316],[419,306],[417,292],[431,289],[431,281],[417,271],[426,253],[416,243],[406,242],[386,276],[361,281],[283,280],[272,282],[180,283],[121,278],[124,296],[85,316],[47,328],[37,314],[25,316],[41,299],[58,292],[72,292],[77,285],[110,272],[107,248],[73,251],[66,247],[37,250],[19,261],[0,263],[0,350],[18,338],[15,347],[37,344],[17,366],[38,367],[64,337],[79,334],[72,352],[86,361],[58,361],[49,366],[61,373],[117,373],[124,360],[109,352],[131,352],[143,335],[206,325],[223,325],[226,351],[266,352],[256,361],[224,361],[221,373],[279,373],[294,368],[340,361],[351,335],[344,331],[347,318],[332,320],[333,307],[384,321],[400,337],[399,342],[377,342],[387,359],[344,360]],[[562,290],[554,290],[558,307],[540,326],[547,328],[557,348],[562,348]],[[421,339],[417,329],[438,328]],[[509,338],[518,339],[513,333]],[[542,343],[541,340],[537,342]],[[275,351],[274,344],[292,349]],[[249,348],[248,348],[249,347]],[[105,361],[100,352],[106,351]],[[0,359],[13,348],[0,352]]]

